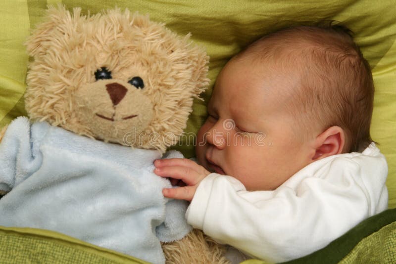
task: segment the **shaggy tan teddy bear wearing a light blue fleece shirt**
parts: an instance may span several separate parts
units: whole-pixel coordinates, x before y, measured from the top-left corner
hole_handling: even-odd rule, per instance
[[[152,172],[155,159],[183,157],[165,151],[208,86],[208,56],[189,36],[127,9],[49,7],[26,42],[29,118],[1,132],[0,225],[58,231],[151,263],[227,263]]]

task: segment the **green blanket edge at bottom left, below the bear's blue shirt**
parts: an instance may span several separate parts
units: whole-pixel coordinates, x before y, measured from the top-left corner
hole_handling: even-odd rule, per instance
[[[33,228],[0,227],[0,263],[147,264],[78,239]]]

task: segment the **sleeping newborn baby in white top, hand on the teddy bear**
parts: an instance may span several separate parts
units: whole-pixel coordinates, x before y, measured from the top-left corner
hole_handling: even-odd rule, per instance
[[[294,27],[223,68],[198,132],[198,164],[156,160],[185,185],[187,220],[249,256],[284,262],[387,209],[385,157],[370,137],[370,67],[342,26]]]

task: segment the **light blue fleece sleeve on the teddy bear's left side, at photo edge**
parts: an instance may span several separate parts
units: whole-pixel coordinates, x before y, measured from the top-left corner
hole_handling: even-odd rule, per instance
[[[29,119],[18,117],[11,122],[1,139],[1,191],[10,191],[41,166],[42,156],[38,150],[38,142],[32,139],[31,133]]]

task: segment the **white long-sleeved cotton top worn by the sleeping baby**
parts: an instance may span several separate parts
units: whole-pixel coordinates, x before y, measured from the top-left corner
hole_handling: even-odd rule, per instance
[[[270,262],[296,259],[325,247],[370,216],[369,208],[376,205],[370,205],[356,170],[360,167],[353,162],[347,166],[332,160],[318,169],[320,176],[302,173],[294,186],[292,180],[290,186],[287,181],[274,191],[254,192],[233,177],[210,174],[198,186],[187,221],[253,257]]]

